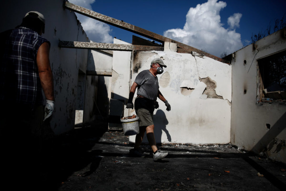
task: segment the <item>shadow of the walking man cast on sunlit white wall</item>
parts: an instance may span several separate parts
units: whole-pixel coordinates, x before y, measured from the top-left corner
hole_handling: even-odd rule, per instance
[[[158,109],[156,111],[156,114],[153,116],[153,122],[154,122],[154,135],[156,143],[159,143],[158,145],[162,143],[163,131],[166,133],[168,141],[169,142],[172,141],[171,135],[169,134],[169,131],[166,128],[166,125],[168,125],[169,122],[163,110]],[[146,136],[144,136],[143,142],[148,143]]]

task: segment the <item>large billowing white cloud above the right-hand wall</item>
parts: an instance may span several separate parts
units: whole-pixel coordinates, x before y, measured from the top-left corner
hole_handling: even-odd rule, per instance
[[[230,54],[243,47],[241,35],[235,29],[225,29],[219,12],[226,7],[223,1],[208,0],[191,7],[186,15],[183,29],[169,29],[164,36],[182,42],[197,49],[202,49],[215,56],[223,52]],[[237,13],[240,14],[240,13]],[[233,26],[239,24],[239,17],[234,17]]]

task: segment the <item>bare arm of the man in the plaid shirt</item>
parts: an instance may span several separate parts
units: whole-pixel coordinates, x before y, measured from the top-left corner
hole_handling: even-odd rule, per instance
[[[47,100],[55,101],[54,86],[53,86],[53,73],[49,61],[50,46],[44,42],[39,47],[37,52],[37,66],[41,85]]]

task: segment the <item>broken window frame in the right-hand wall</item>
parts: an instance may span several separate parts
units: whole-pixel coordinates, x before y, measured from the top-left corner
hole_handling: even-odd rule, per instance
[[[281,95],[281,99],[275,99],[274,96],[273,97],[266,96],[266,93],[272,93],[272,92],[267,92],[267,90],[266,90],[267,87],[265,87],[263,84],[263,75],[261,75],[261,73],[265,69],[259,68],[259,65],[261,66],[262,64],[266,64],[266,63],[263,63],[263,61],[265,62],[265,60],[267,60],[271,57],[274,57],[274,56],[286,56],[286,49],[279,51],[279,52],[275,52],[273,54],[269,54],[267,56],[263,56],[263,57],[256,60],[256,62],[257,62],[257,65],[256,65],[257,66],[257,99],[256,99],[256,102],[257,103],[269,103],[272,101],[278,102],[278,103],[286,102],[285,96],[282,96],[282,95]],[[285,72],[286,72],[286,70],[285,70]],[[281,92],[283,92],[283,94],[285,94],[286,91],[279,90],[279,91],[273,91],[273,92],[277,92],[279,94]],[[271,98],[272,100],[271,99],[270,100],[262,100],[263,98]]]

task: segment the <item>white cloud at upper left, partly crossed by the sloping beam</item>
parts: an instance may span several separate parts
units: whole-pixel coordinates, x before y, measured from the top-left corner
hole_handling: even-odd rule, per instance
[[[92,10],[91,4],[94,3],[95,0],[69,0],[69,2]],[[90,40],[92,40],[93,42],[113,43],[113,38],[109,34],[111,32],[111,29],[108,24],[81,15],[79,13],[76,13],[76,16],[78,17],[78,20],[82,23],[82,28],[84,29]]]

